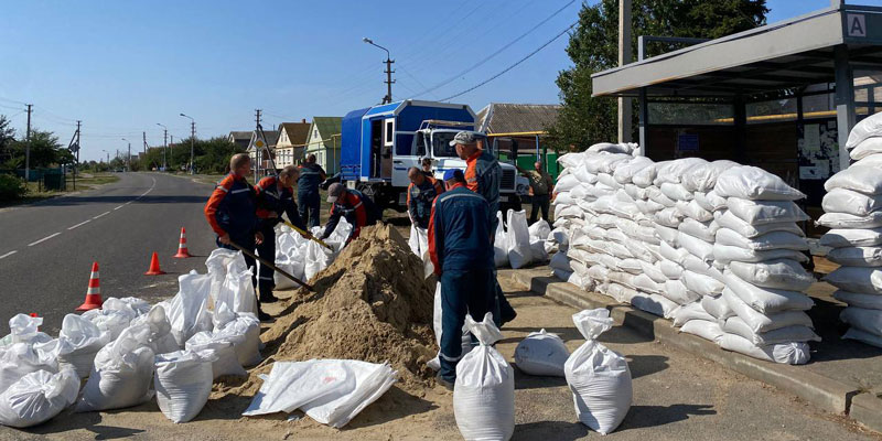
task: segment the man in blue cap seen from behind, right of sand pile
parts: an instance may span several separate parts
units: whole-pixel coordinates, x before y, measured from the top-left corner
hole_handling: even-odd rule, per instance
[[[487,201],[465,185],[462,170],[444,173],[447,192],[434,200],[429,220],[429,256],[441,283],[441,369],[451,387],[462,358],[465,314],[481,320],[493,312],[498,325],[493,246]]]

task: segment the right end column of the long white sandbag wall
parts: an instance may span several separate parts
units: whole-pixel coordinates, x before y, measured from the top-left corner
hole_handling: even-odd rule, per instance
[[[725,198],[725,209],[717,212],[713,257],[723,268],[722,297],[734,312],[720,345],[777,363],[806,363],[806,342],[820,337],[805,313],[814,302],[802,292],[813,279],[800,266],[808,261],[808,244],[797,223],[809,217],[794,201],[805,195],[755,166],[727,170],[712,193]]]

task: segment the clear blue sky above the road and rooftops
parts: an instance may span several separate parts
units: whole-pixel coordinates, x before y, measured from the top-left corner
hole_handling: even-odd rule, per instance
[[[594,1],[589,1],[593,3]],[[875,4],[880,0],[861,0]],[[251,130],[313,116],[343,116],[386,94],[386,53],[396,100],[441,100],[541,51],[453,99],[557,104],[555,79],[571,66],[563,32],[572,0],[9,1],[0,26],[0,115],[67,143],[83,121],[80,160],[132,153],[174,139]],[[767,0],[768,22],[829,0]]]

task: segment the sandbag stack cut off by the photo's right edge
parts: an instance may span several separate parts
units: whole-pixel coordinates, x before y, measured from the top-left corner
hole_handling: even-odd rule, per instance
[[[854,126],[846,148],[857,162],[827,180],[818,219],[831,228],[820,239],[832,248],[827,258],[841,265],[825,280],[848,304],[842,337],[882,347],[882,115]]]

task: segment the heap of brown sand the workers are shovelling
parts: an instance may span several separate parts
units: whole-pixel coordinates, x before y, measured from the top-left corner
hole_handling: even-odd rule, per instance
[[[218,391],[250,396],[259,389],[258,373],[276,361],[348,358],[389,361],[399,385],[419,390],[432,378],[426,362],[438,348],[432,336],[434,282],[422,279],[422,261],[390,226],[362,230],[334,263],[300,289],[284,312],[261,335],[267,361],[241,386]]]

